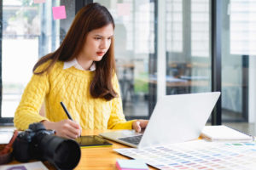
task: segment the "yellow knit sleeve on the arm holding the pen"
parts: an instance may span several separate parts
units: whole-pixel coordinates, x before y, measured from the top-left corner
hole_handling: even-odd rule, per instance
[[[41,71],[47,63],[38,66],[36,71]],[[20,105],[15,111],[14,123],[18,129],[25,130],[33,122],[48,120],[46,117],[39,115],[45,95],[49,93],[48,77],[48,72],[44,72],[42,75],[33,74],[30,82],[26,85]]]

